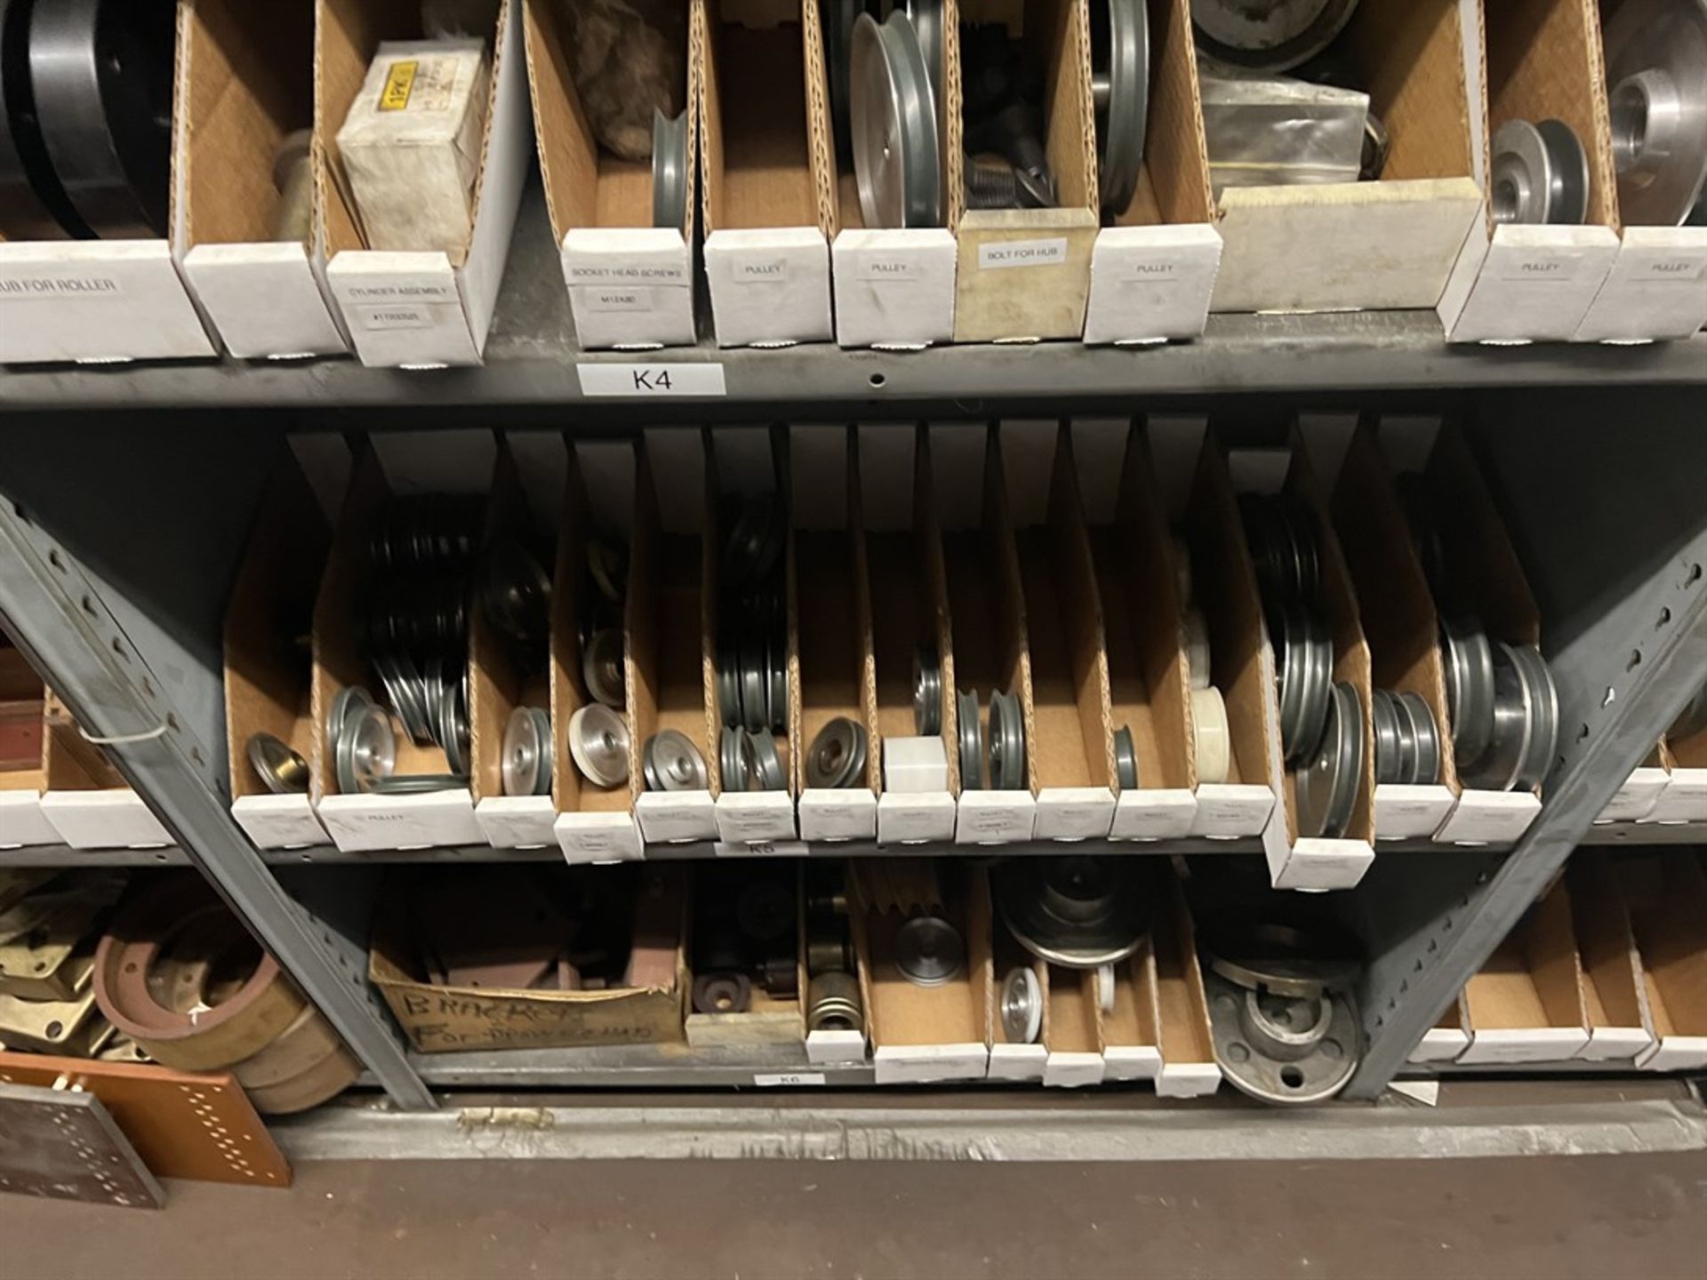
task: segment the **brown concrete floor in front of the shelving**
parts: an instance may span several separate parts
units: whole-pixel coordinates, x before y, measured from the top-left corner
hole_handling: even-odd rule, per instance
[[[0,1280],[1707,1277],[1707,1152],[1480,1161],[348,1161],[164,1212],[0,1196]]]

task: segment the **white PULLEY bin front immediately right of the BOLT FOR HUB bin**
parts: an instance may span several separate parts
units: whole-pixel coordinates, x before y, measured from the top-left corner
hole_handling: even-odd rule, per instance
[[[1197,338],[1221,270],[1221,232],[1207,224],[1103,227],[1091,249],[1086,343]]]

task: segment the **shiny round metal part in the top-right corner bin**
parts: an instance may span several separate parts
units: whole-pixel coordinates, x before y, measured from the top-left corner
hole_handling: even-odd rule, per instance
[[[1678,225],[1707,188],[1707,3],[1625,0],[1603,34],[1625,225]]]

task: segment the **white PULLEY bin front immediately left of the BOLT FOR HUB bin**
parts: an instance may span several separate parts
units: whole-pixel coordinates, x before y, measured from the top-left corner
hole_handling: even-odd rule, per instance
[[[830,244],[842,346],[917,350],[954,336],[954,234],[848,229]]]

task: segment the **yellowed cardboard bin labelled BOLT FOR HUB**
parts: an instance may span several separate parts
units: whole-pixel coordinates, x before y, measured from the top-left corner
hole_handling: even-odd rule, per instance
[[[1022,14],[1017,12],[1022,9]],[[1002,20],[1043,63],[1043,143],[1058,208],[968,210],[964,125],[949,116],[949,225],[958,237],[954,341],[1038,341],[1084,331],[1096,244],[1096,119],[1086,0],[964,0],[963,20]],[[956,67],[954,79],[964,79]]]

